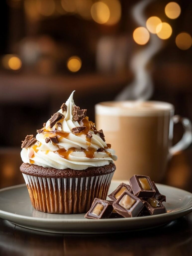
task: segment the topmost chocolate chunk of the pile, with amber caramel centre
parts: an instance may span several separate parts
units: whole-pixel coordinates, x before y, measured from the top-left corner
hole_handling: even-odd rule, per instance
[[[137,197],[146,198],[155,195],[155,188],[148,176],[133,175],[129,179],[133,194]]]

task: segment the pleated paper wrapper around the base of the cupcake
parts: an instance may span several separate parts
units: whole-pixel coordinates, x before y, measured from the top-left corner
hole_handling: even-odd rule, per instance
[[[36,210],[78,214],[87,212],[95,197],[106,199],[113,173],[83,178],[23,177]]]

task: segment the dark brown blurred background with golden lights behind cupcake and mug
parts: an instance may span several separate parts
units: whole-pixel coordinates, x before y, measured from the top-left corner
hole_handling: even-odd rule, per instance
[[[23,183],[21,140],[72,90],[93,121],[96,103],[116,99],[167,101],[192,120],[190,0],[7,0],[1,9],[0,187]],[[174,144],[182,134],[176,125]],[[191,159],[191,147],[175,156],[164,183],[191,190]]]

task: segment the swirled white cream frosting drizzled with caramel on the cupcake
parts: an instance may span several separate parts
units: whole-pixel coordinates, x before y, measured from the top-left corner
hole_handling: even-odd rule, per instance
[[[114,150],[110,144],[106,144],[95,128],[95,124],[85,116],[81,121],[73,120],[73,93],[66,101],[67,111],[58,112],[63,114],[55,125],[50,128],[50,120],[46,122],[41,133],[37,133],[36,142],[27,148],[22,148],[21,158],[24,163],[53,167],[57,169],[71,168],[84,170],[88,167],[108,165],[117,160]],[[74,134],[75,127],[86,126],[86,128]],[[73,129],[74,130],[74,129]],[[86,134],[90,132],[92,137]],[[49,138],[57,137],[58,143]],[[46,141],[49,141],[46,143]]]

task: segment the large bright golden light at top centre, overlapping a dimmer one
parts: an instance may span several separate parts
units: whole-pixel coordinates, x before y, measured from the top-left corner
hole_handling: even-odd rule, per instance
[[[91,7],[91,16],[95,22],[105,24],[110,17],[109,7],[104,2],[96,2]]]

